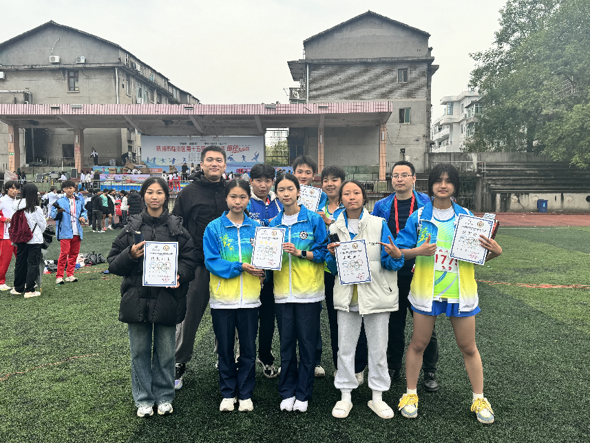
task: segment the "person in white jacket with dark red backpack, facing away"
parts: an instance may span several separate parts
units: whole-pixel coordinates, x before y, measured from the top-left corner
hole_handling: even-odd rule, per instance
[[[43,231],[47,227],[47,220],[41,207],[37,206],[38,190],[35,185],[28,183],[23,186],[21,198],[15,200],[14,211],[23,210],[33,237],[27,243],[17,243],[17,262],[14,267],[14,288],[11,293],[25,293],[25,298],[40,296],[35,291],[35,280],[39,276],[41,262],[41,245],[43,245]]]

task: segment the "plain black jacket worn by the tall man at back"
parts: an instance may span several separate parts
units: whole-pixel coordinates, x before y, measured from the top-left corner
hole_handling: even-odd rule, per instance
[[[225,180],[212,182],[202,171],[189,177],[193,181],[186,186],[174,203],[172,214],[182,217],[182,225],[189,231],[195,242],[197,260],[204,265],[203,234],[211,221],[227,211],[225,200]]]

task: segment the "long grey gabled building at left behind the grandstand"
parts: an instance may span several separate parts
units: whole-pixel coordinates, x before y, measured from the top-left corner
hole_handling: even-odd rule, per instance
[[[5,104],[196,104],[193,95],[116,43],[48,21],[0,43],[0,103]],[[25,165],[99,165],[133,152],[140,157],[139,128],[88,129],[65,121],[70,129],[21,130],[0,123],[0,169]],[[8,136],[7,136],[8,134]],[[8,143],[19,146],[8,155]],[[74,161],[74,158],[76,160]]]

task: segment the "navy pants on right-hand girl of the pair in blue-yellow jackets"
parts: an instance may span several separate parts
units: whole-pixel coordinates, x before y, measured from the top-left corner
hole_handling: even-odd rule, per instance
[[[281,398],[311,399],[315,372],[317,325],[321,302],[275,303],[277,329],[281,340]],[[299,344],[299,365],[297,365]]]

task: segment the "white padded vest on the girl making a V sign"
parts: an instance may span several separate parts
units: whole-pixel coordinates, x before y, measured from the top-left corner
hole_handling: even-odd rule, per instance
[[[330,225],[330,234],[338,234],[341,242],[350,241],[350,233],[344,217],[343,211],[335,223]],[[382,241],[382,231],[383,218],[372,216],[366,209],[363,209],[363,215],[359,222],[359,234],[355,236],[355,240],[365,240],[371,282],[357,285],[361,315],[397,311],[398,309],[397,271],[388,271],[381,266],[381,245],[378,242]],[[339,278],[336,278],[334,285],[335,309],[348,311],[354,286],[340,285]]]

